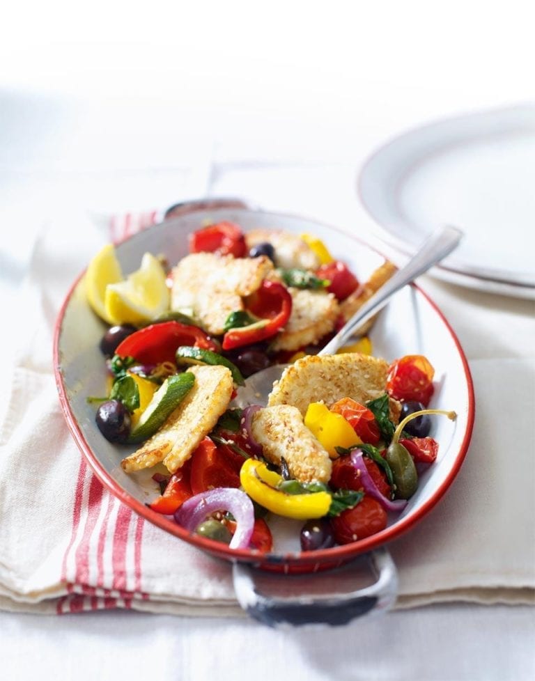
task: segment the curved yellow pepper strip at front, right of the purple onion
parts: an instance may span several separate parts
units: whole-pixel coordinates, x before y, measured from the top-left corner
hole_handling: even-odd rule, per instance
[[[240,470],[240,482],[245,492],[267,510],[297,520],[327,515],[331,506],[331,495],[328,492],[287,494],[277,490],[281,481],[278,473],[270,471],[265,463],[256,459],[245,460]]]

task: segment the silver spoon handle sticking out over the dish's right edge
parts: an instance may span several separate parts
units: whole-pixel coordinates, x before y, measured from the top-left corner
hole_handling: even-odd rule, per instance
[[[381,286],[364,305],[343,325],[332,340],[318,354],[334,354],[351,338],[357,329],[380,311],[400,288],[414,281],[417,276],[445,258],[460,242],[463,232],[456,227],[441,227],[420,246],[405,267],[398,269],[394,276]]]

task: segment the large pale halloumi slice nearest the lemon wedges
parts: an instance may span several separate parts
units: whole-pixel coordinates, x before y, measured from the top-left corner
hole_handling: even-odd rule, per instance
[[[266,256],[191,253],[173,269],[171,309],[189,311],[210,334],[222,334],[228,315],[244,308],[242,297],[254,293],[272,269]]]

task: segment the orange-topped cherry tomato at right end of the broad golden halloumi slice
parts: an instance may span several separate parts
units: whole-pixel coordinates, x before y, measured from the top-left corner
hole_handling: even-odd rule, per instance
[[[408,354],[391,363],[387,376],[387,393],[394,400],[416,400],[428,405],[433,395],[435,370],[421,354]]]

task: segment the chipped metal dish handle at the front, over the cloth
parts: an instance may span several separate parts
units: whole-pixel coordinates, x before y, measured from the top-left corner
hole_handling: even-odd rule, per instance
[[[259,574],[246,563],[234,563],[233,582],[238,602],[251,617],[270,627],[280,625],[327,624],[339,626],[368,613],[386,611],[394,605],[398,590],[396,565],[384,547],[371,551],[367,558],[369,568],[375,575],[371,586],[343,594],[322,593],[304,595],[292,590],[290,597],[278,597],[258,588]],[[359,561],[360,562],[360,561]],[[350,564],[350,569],[354,563]],[[347,569],[347,567],[346,567]],[[328,572],[314,575],[315,579],[327,579]],[[292,575],[288,576],[290,579]],[[286,577],[281,577],[286,579]]]

